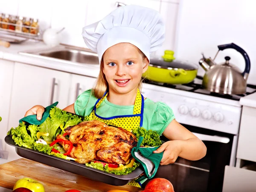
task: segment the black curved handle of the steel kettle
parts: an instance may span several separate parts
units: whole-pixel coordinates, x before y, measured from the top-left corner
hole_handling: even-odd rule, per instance
[[[236,49],[238,52],[240,52],[245,60],[245,69],[244,72],[242,73],[242,76],[244,76],[246,74],[246,76],[248,75],[248,73],[250,72],[250,58],[248,56],[248,54],[244,51],[244,49],[242,49],[241,47],[237,46],[234,43],[231,44],[224,44],[224,45],[218,45],[218,49],[223,51],[224,49]]]

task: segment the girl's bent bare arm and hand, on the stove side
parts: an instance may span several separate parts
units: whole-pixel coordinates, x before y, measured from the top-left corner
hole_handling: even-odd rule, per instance
[[[163,135],[170,141],[154,151],[164,151],[161,165],[174,163],[178,156],[187,160],[199,160],[206,155],[207,148],[204,143],[175,119],[163,131]]]

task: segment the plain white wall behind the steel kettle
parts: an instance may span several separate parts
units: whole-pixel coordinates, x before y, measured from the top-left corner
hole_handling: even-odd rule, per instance
[[[247,83],[256,84],[256,0],[180,0],[176,56],[198,64],[201,52],[214,58],[218,45],[235,43],[250,57]],[[220,51],[217,63],[230,63],[244,71],[242,55],[234,49]],[[204,70],[199,66],[198,74]]]

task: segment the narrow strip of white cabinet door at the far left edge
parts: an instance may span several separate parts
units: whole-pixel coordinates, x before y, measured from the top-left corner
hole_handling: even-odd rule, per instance
[[[9,107],[11,100],[12,78],[13,78],[14,62],[0,59],[0,139],[3,142],[3,149],[5,150],[6,137],[9,119]]]

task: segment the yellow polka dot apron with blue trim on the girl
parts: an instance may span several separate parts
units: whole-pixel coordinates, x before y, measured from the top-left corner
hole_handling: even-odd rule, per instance
[[[96,113],[96,109],[99,105],[103,102],[103,100],[108,96],[108,93],[98,99],[93,107],[93,111],[90,113],[90,119],[97,119],[101,122],[105,122],[108,125],[113,125],[116,127],[121,127],[126,129],[127,131],[132,131],[133,128],[142,127],[143,124],[143,109],[144,109],[144,97],[140,94],[140,90],[137,90],[137,96],[134,102],[134,111],[132,115],[119,115],[119,116],[112,116],[112,117],[102,117]],[[135,178],[134,180],[136,180]],[[128,185],[141,187],[140,183],[131,180]]]

